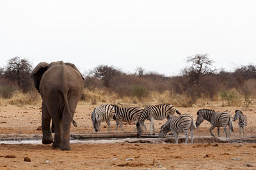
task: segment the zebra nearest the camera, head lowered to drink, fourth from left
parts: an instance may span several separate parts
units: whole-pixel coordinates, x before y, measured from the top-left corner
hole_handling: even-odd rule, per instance
[[[191,143],[193,143],[193,129],[196,129],[196,125],[193,116],[190,114],[182,114],[177,117],[171,117],[162,127],[159,132],[158,138],[164,138],[170,131],[175,136],[175,143],[178,143],[179,132],[184,132],[186,136],[185,143],[188,143],[188,130],[190,129]]]

